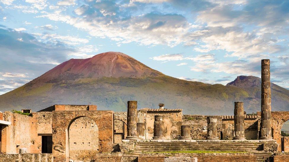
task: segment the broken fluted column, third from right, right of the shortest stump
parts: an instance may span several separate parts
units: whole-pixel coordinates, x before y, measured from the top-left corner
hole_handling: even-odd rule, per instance
[[[218,130],[217,130],[217,117],[216,116],[208,116],[208,137],[207,140],[219,140]]]

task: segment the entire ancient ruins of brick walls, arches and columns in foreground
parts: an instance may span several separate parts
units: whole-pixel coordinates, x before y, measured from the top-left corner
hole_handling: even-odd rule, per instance
[[[261,66],[261,112],[253,115],[238,101],[234,116],[184,115],[165,104],[138,109],[137,101],[127,112],[96,105],[1,112],[0,161],[289,161],[281,136],[289,112],[271,112],[269,60]]]

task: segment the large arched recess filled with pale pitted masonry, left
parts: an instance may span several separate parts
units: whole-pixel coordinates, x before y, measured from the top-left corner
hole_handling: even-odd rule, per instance
[[[89,117],[78,117],[68,126],[69,159],[90,161],[98,153],[98,127]]]

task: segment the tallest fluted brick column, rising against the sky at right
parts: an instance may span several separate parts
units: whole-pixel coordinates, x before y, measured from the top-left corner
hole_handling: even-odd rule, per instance
[[[271,82],[270,60],[261,60],[261,137],[271,140]]]

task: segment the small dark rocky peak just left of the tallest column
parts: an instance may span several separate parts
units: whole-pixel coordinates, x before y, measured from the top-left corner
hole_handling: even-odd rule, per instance
[[[259,87],[261,85],[261,78],[256,76],[237,76],[237,78],[228,83],[227,86],[236,86],[239,88],[252,88]]]

